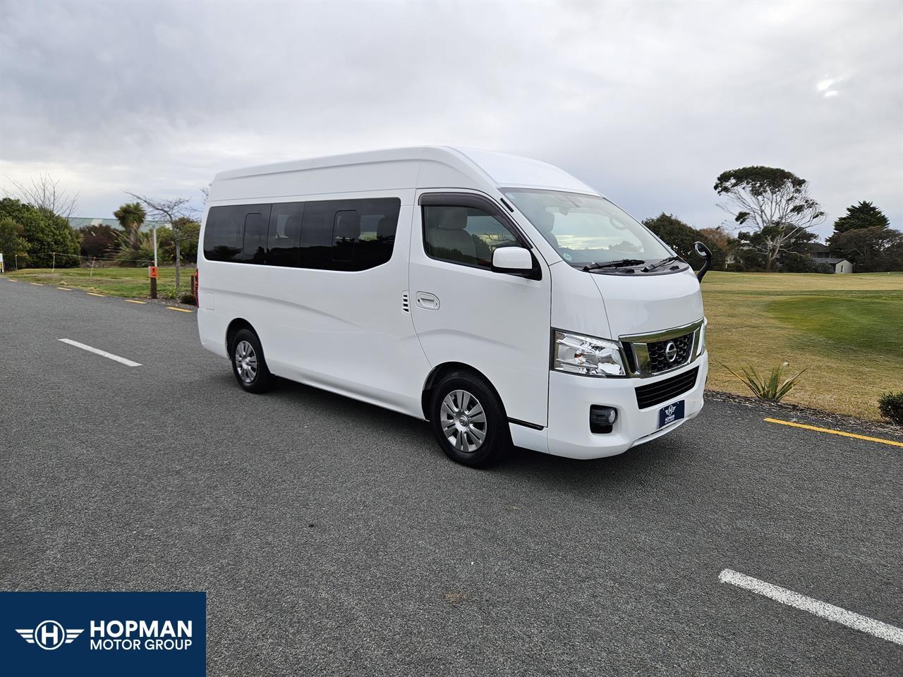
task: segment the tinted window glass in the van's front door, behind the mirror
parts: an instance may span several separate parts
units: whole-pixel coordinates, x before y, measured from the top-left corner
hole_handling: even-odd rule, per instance
[[[498,218],[473,207],[424,206],[424,249],[433,258],[492,267],[492,252],[519,246]]]

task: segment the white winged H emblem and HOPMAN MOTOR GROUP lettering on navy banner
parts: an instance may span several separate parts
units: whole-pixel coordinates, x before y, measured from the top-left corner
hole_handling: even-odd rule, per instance
[[[71,644],[84,628],[64,628],[46,620],[33,630],[15,628],[30,645],[52,651]],[[88,648],[91,651],[184,651],[191,647],[191,621],[90,621]]]

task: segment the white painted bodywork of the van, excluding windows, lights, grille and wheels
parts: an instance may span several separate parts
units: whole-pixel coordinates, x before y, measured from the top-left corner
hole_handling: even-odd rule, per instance
[[[553,329],[617,340],[701,320],[694,274],[578,270],[504,201],[505,188],[600,195],[545,162],[434,146],[220,172],[210,188],[201,243],[209,209],[219,206],[393,197],[401,209],[391,258],[359,272],[208,261],[199,252],[202,345],[227,357],[229,324],[245,320],[275,375],[419,418],[433,369],[462,363],[498,391],[514,421],[515,444],[572,458],[620,453],[682,424],[658,430],[659,406],[639,410],[638,385],[698,369],[693,390],[673,398],[684,400],[684,422],[697,415],[708,370],[704,351],[691,365],[662,376],[598,378],[550,369]],[[424,192],[472,192],[503,204],[531,246],[542,279],[427,256],[418,204]],[[437,297],[439,310],[418,306],[417,292]],[[619,409],[611,433],[591,433],[591,404]]]

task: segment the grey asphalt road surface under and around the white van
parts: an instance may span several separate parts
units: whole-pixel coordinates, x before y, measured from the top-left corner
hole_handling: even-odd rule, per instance
[[[164,305],[0,280],[0,348],[0,588],[206,590],[209,674],[903,673],[719,578],[903,627],[901,447],[713,402],[478,471],[425,422],[242,392]]]

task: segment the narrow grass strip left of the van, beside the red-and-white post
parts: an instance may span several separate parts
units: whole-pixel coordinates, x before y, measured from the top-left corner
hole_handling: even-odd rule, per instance
[[[195,266],[183,266],[180,289],[182,293],[191,292],[191,274]],[[161,299],[175,298],[175,268],[159,268],[157,279],[157,295]],[[151,295],[151,281],[147,277],[147,268],[25,268],[8,274],[16,280],[41,284],[52,284],[55,287],[71,287],[88,292],[123,296],[127,299],[146,299]]]

